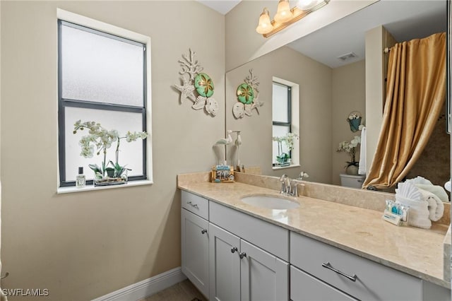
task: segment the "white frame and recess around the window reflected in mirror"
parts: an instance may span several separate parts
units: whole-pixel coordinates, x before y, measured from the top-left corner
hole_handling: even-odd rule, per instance
[[[280,83],[282,85],[287,85],[290,87],[290,131],[294,134],[300,136],[299,133],[299,84],[293,83],[292,81],[287,81],[283,78],[278,78],[273,76],[273,82]],[[273,116],[273,112],[272,112]],[[272,117],[273,121],[273,117]],[[272,125],[273,131],[273,125]],[[300,137],[299,137],[300,139]],[[273,141],[272,141],[273,143]],[[273,166],[273,170],[282,170],[290,167],[299,167],[299,141],[295,143],[295,148],[291,152],[291,163],[288,166]],[[272,147],[273,150],[273,147]],[[273,153],[273,151],[272,151]],[[273,157],[273,155],[272,155]],[[273,158],[272,158],[273,165]]]

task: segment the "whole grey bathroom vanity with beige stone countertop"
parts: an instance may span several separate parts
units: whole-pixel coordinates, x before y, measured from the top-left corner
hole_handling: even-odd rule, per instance
[[[446,226],[397,227],[307,196],[292,199],[298,208],[262,208],[242,197],[278,191],[186,179],[182,271],[210,300],[451,300]]]

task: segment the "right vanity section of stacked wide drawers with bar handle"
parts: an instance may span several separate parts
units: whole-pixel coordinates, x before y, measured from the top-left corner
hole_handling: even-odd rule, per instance
[[[291,298],[451,300],[450,290],[310,237],[290,233]],[[308,284],[311,283],[311,284]]]

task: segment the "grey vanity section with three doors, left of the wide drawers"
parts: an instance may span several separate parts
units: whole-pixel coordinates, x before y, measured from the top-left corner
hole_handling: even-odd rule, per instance
[[[182,272],[210,300],[289,300],[288,259],[288,230],[182,191]]]

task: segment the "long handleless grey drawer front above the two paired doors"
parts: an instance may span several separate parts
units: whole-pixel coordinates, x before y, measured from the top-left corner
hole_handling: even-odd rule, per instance
[[[210,201],[210,223],[289,261],[289,230]]]

